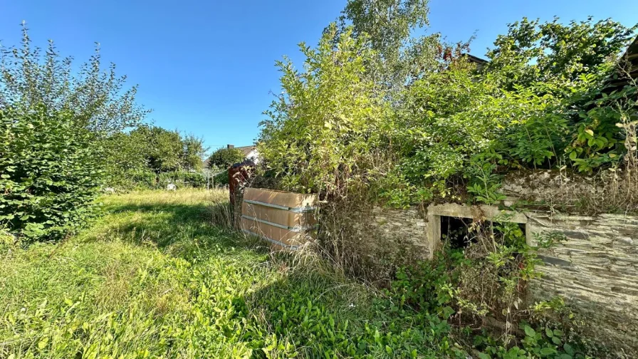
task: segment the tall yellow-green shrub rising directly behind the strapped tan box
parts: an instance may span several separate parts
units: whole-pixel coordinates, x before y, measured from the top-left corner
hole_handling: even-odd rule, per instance
[[[335,194],[348,178],[363,175],[385,145],[389,103],[368,76],[365,66],[376,52],[365,36],[353,38],[352,29],[333,24],[317,48],[300,49],[304,71],[278,62],[283,92],[266,111],[258,150],[287,188]]]

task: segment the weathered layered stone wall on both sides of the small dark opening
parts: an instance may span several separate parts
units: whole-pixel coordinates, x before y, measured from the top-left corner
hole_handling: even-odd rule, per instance
[[[497,207],[461,204],[424,210],[374,208],[357,219],[357,241],[377,264],[404,264],[432,256],[439,244],[441,216],[491,219],[502,214]],[[638,350],[638,217],[507,214],[512,222],[525,224],[528,244],[543,232],[558,231],[566,237],[540,254],[544,276],[533,283],[532,298],[560,295],[598,342],[624,350],[624,356]]]

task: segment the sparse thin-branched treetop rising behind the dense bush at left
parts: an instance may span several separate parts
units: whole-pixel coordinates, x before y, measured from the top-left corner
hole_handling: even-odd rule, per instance
[[[70,111],[76,125],[100,137],[132,128],[148,113],[135,103],[137,86],[126,88],[115,64],[103,71],[99,44],[75,73],[73,58],[61,58],[53,41],[46,50],[33,46],[25,24],[21,47],[1,48],[0,86],[0,107]]]

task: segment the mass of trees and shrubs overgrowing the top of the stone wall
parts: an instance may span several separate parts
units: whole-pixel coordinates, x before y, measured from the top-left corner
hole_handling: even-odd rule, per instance
[[[523,19],[498,36],[481,66],[468,61],[468,43],[402,41],[401,59],[413,61],[392,73],[402,76],[397,90],[378,75],[389,71],[387,44],[362,25],[377,24],[378,3],[350,1],[345,19],[355,31],[333,25],[317,48],[302,44],[303,72],[278,63],[283,93],[266,112],[259,150],[283,187],[328,194],[366,187],[397,206],[436,197],[492,203],[508,170],[593,172],[617,167],[631,150],[626,128],[637,86],[605,86],[618,76],[615,58],[635,28]],[[394,31],[424,24],[423,11],[413,11]]]

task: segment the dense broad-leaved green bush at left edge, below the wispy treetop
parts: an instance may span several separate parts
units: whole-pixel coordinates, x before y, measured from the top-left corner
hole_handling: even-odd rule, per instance
[[[0,110],[0,221],[28,240],[61,239],[86,224],[102,183],[93,132],[73,114]]]

